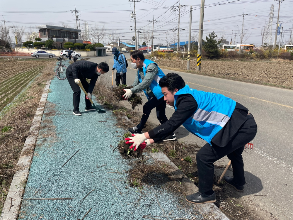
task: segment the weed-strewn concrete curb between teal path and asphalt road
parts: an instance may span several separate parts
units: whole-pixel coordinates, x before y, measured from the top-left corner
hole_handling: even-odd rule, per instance
[[[121,119],[126,120],[133,126],[135,126],[132,121],[126,116],[120,117]],[[179,180],[183,177],[183,172],[178,169],[178,167],[161,151],[157,153],[149,153],[152,158],[159,164],[166,164],[167,167],[164,169],[169,170],[170,173],[173,174],[174,177],[178,178]],[[198,192],[198,188],[191,182],[191,180],[184,175],[184,178],[180,181],[188,193],[193,194]],[[217,219],[217,220],[229,220],[229,218],[217,207],[214,203],[206,203],[195,205],[193,204],[196,209],[200,212],[200,214],[205,215],[205,217]]]

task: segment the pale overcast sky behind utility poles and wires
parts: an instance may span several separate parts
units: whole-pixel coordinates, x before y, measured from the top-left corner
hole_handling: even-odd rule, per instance
[[[193,5],[192,13],[192,34],[198,34],[200,0],[181,0],[181,5],[186,7],[181,8],[180,28],[184,28],[180,32],[180,41],[188,40],[189,28],[189,11],[190,5]],[[84,4],[82,4],[84,3]],[[98,4],[100,3],[100,4]],[[136,2],[137,28],[140,31],[145,31],[149,28],[152,30],[150,21],[154,19],[154,43],[174,43],[172,30],[178,28],[178,11],[170,10],[172,6],[179,4],[178,0],[142,0]],[[224,35],[224,38],[231,40],[233,30],[233,41],[235,33],[241,34],[243,9],[245,9],[244,30],[246,33],[246,43],[261,44],[260,32],[268,23],[271,5],[274,5],[273,19],[273,36],[275,38],[275,28],[277,23],[278,1],[273,0],[206,0],[204,14],[204,39],[205,36],[214,31],[218,37]],[[75,17],[70,10],[81,11],[79,13],[80,26],[84,26],[84,22],[88,22],[89,33],[91,38],[91,26],[99,24],[105,25],[107,33],[114,30],[120,35],[120,40],[128,41],[134,36],[134,31],[130,29],[134,26],[134,21],[131,19],[133,3],[127,0],[69,0],[69,1],[23,1],[1,0],[0,20],[3,23],[5,18],[6,26],[23,26],[25,28],[38,25],[55,25],[60,26],[62,23],[70,24],[72,28],[76,28]],[[293,1],[285,0],[281,3],[280,21],[283,22],[285,37],[284,41],[289,41],[290,29],[293,26]],[[238,32],[239,30],[239,32]],[[246,32],[246,31],[244,31]],[[177,32],[176,32],[177,33]],[[13,36],[12,30],[10,35]],[[142,35],[141,35],[142,36]],[[108,34],[105,36],[108,43]],[[238,40],[237,40],[238,38]],[[24,37],[23,37],[24,40]],[[105,43],[104,40],[104,43]],[[197,38],[198,40],[198,38]],[[236,42],[240,41],[239,36],[236,36]],[[279,36],[277,42],[279,41]],[[142,40],[140,40],[142,43]]]

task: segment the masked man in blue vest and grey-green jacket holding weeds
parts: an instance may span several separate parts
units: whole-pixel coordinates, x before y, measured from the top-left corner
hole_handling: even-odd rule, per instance
[[[128,129],[128,131],[133,134],[142,132],[151,110],[154,108],[156,108],[157,118],[161,124],[168,121],[168,119],[166,117],[166,102],[164,101],[164,95],[159,86],[159,81],[165,76],[165,74],[155,62],[145,59],[144,54],[140,50],[132,51],[130,53],[130,59],[132,62],[132,68],[138,68],[138,70],[132,84],[133,88],[124,89],[125,94],[123,97],[127,100],[133,93],[144,91],[148,99],[144,104],[140,123],[137,126]],[[170,135],[163,139],[163,141],[173,140],[176,140],[174,133],[170,133]]]

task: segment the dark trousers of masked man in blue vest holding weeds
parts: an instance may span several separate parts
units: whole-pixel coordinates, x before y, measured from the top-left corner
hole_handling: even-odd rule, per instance
[[[151,98],[144,104],[144,110],[142,113],[142,119],[140,123],[137,125],[139,131],[142,131],[144,125],[147,123],[147,119],[149,118],[149,114],[151,114],[151,110],[156,108],[157,111],[157,118],[159,119],[160,123],[163,124],[168,121],[166,117],[166,101],[164,101],[164,97],[161,99]]]

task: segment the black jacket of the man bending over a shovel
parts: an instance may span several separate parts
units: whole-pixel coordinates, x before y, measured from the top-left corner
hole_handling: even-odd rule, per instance
[[[66,72],[68,72],[69,77],[72,77],[74,79],[80,79],[81,81],[91,79],[88,87],[88,92],[92,93],[96,81],[99,77],[99,75],[96,74],[97,66],[97,63],[80,60],[69,65]]]

